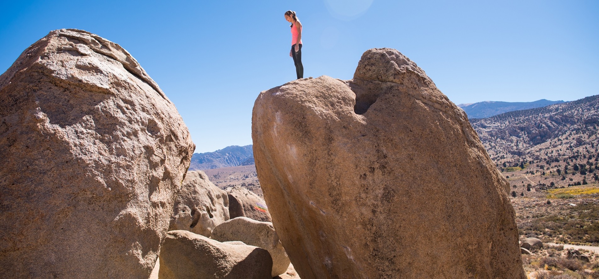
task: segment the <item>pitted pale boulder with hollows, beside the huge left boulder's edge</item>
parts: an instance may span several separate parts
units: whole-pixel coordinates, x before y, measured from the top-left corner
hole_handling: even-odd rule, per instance
[[[229,220],[227,193],[210,182],[204,171],[187,171],[168,230],[184,229],[210,237],[212,230],[226,220]]]

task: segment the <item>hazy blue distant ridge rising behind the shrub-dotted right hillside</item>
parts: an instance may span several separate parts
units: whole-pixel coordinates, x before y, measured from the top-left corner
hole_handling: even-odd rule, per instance
[[[565,103],[562,100],[550,101],[546,99],[537,100],[534,102],[494,102],[485,101],[478,103],[465,103],[458,105],[464,109],[468,118],[488,118],[491,116],[504,114],[510,111],[521,111],[522,109],[542,108],[544,106]]]

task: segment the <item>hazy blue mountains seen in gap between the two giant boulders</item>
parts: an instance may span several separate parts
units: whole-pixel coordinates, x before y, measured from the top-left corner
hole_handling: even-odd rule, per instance
[[[193,154],[189,170],[236,167],[238,165],[251,165],[253,162],[254,152],[252,145],[232,145],[214,152]]]

